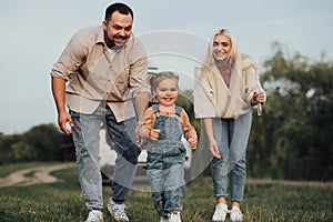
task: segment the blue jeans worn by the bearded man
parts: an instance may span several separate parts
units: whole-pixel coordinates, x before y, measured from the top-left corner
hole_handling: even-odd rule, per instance
[[[92,114],[70,111],[75,145],[77,170],[88,210],[102,210],[102,178],[99,164],[100,125],[103,122],[113,149],[118,153],[112,183],[112,199],[125,201],[137,170],[140,150],[135,143],[135,118],[117,122],[105,102]]]

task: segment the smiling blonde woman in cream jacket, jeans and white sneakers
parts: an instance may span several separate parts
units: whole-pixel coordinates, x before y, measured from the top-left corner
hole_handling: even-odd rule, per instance
[[[213,221],[242,221],[240,210],[245,185],[245,155],[252,108],[264,103],[255,91],[255,72],[250,58],[241,54],[230,31],[222,29],[209,44],[205,64],[195,70],[195,117],[202,120],[201,144],[213,155],[211,173],[216,198]],[[228,210],[228,179],[231,210]]]

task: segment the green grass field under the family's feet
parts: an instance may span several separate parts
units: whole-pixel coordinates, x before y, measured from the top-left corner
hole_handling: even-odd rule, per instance
[[[28,167],[28,165],[24,165]],[[20,167],[11,167],[20,169]],[[3,167],[0,172],[3,172]],[[9,171],[9,170],[7,170]],[[8,172],[7,172],[8,173]],[[57,171],[65,182],[0,189],[1,222],[78,222],[87,216],[74,169]],[[3,176],[3,173],[1,174]],[[104,203],[110,188],[103,186]],[[154,222],[150,193],[132,190],[128,196],[131,221]],[[184,222],[211,221],[214,210],[211,178],[201,175],[186,185]],[[244,221],[333,221],[332,183],[286,182],[249,179],[242,205]],[[112,222],[109,213],[105,221]],[[226,220],[229,221],[229,219]]]

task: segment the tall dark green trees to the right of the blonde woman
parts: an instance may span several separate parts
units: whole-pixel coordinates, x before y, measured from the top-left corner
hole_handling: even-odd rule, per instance
[[[251,176],[333,180],[333,64],[275,44],[262,77],[268,102],[253,117],[248,150]],[[255,115],[255,114],[254,114]]]

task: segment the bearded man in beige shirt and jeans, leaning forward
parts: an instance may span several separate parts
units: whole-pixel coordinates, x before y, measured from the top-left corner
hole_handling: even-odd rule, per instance
[[[117,221],[129,221],[124,202],[140,154],[135,125],[148,108],[150,92],[147,54],[132,34],[132,23],[128,6],[109,6],[102,26],[78,31],[51,71],[59,127],[73,135],[87,222],[103,221],[98,162],[102,122],[118,152],[108,210]]]

